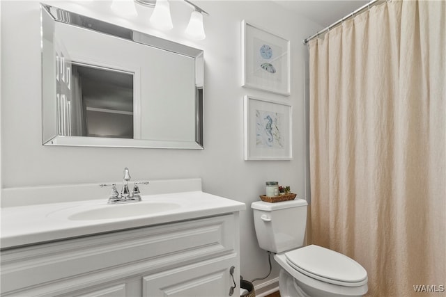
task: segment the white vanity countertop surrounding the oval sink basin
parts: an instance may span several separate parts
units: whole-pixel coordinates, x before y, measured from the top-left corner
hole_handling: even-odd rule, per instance
[[[138,211],[137,216],[114,218],[105,216],[105,218],[92,220],[85,218],[73,220],[70,217],[96,209],[101,213],[102,210],[107,213],[112,208],[116,210],[117,207],[130,204],[107,204],[107,199],[101,199],[1,208],[1,248],[217,216],[246,208],[245,203],[202,191],[142,195],[141,197],[143,201],[132,204],[137,204],[142,208],[147,207],[144,204],[172,203],[176,207],[161,209],[151,214],[141,214],[144,211]]]

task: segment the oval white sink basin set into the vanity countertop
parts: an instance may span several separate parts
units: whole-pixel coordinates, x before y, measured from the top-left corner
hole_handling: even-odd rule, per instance
[[[172,202],[134,202],[129,204],[107,204],[89,210],[74,212],[68,220],[109,220],[112,218],[130,218],[147,216],[163,211],[178,209],[180,204]]]

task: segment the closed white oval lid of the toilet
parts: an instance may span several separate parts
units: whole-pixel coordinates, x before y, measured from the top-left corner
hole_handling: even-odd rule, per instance
[[[360,264],[334,250],[311,245],[286,252],[285,256],[290,266],[300,273],[323,282],[367,282],[367,271]]]

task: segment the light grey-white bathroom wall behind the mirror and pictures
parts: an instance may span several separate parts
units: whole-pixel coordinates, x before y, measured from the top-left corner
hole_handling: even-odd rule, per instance
[[[101,183],[121,179],[124,167],[134,179],[201,177],[203,191],[245,202],[241,214],[241,274],[247,280],[268,272],[266,252],[257,246],[251,202],[267,180],[291,186],[305,198],[305,96],[302,39],[320,26],[270,1],[195,1],[204,16],[206,40],[185,38],[191,8],[171,3],[174,29],[150,28],[151,11],[134,21],[109,11],[109,1],[50,3],[107,22],[185,43],[205,51],[205,150],[99,147],[43,147],[40,115],[40,16],[38,1],[1,1],[1,188]],[[302,6],[305,1],[302,1]],[[240,86],[240,23],[243,19],[291,40],[291,96]],[[293,106],[293,160],[243,160],[243,96]],[[104,198],[106,198],[105,193]],[[63,201],[63,197],[60,198]],[[269,279],[277,278],[275,265]],[[256,282],[255,284],[258,284]]]

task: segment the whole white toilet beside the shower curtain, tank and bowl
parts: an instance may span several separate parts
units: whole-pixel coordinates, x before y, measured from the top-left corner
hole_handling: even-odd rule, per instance
[[[363,296],[367,271],[355,260],[321,246],[304,246],[307,201],[253,202],[257,241],[282,267],[282,297]]]

